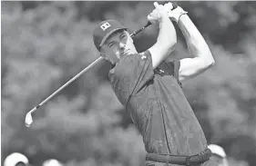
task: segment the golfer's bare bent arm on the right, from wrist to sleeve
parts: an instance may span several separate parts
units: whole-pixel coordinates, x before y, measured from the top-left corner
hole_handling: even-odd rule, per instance
[[[180,60],[179,81],[184,81],[203,73],[209,69],[215,61],[210,53],[208,44],[205,42],[195,24],[190,20],[189,15],[181,15],[178,25],[186,39],[189,54],[192,55],[192,58]]]

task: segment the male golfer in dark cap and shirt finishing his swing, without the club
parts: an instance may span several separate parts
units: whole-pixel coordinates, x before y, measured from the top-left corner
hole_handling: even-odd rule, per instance
[[[109,80],[143,137],[147,166],[216,165],[181,83],[214,64],[205,40],[181,7],[159,5],[148,21],[159,26],[156,44],[138,53],[128,28],[115,20],[97,24],[93,38],[109,63]],[[192,58],[166,62],[177,43],[174,20],[184,34]],[[167,164],[168,163],[168,164]]]

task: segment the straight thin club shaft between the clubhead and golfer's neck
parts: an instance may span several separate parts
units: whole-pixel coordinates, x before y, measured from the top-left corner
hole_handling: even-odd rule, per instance
[[[42,105],[44,105],[46,102],[48,102],[52,97],[54,97],[56,95],[56,93],[59,93],[62,89],[64,89],[69,83],[74,82],[80,75],[82,75],[83,73],[87,72],[87,70],[89,70],[90,68],[92,68],[95,64],[97,64],[99,61],[101,61],[103,59],[103,57],[99,57],[97,58],[97,60],[95,60],[93,63],[90,63],[84,70],[82,70],[80,73],[77,73],[77,75],[75,75],[72,79],[70,79],[67,83],[65,83],[64,85],[62,85],[60,88],[58,88],[56,90],[56,92],[52,93],[49,97],[47,97],[42,103],[39,103],[38,105],[36,105],[36,107],[34,107],[30,113],[35,112],[39,107],[41,107]]]

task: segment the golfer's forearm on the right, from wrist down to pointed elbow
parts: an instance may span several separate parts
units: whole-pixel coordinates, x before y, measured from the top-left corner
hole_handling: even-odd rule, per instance
[[[189,53],[193,57],[200,57],[206,62],[214,63],[208,44],[205,42],[198,28],[190,20],[189,15],[181,15],[178,25],[188,44]]]

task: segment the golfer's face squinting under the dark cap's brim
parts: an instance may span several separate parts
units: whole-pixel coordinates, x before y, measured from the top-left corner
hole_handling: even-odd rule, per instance
[[[134,52],[134,44],[128,32],[120,30],[108,37],[108,40],[103,45],[103,49],[110,58],[120,59],[122,55]]]

